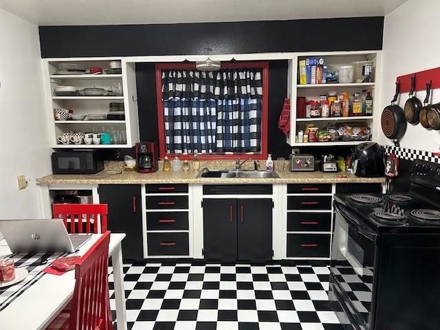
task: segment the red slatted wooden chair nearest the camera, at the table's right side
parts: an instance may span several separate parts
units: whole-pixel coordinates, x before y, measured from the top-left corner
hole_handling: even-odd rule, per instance
[[[108,261],[110,232],[75,265],[75,291],[69,309],[63,310],[47,330],[111,330]]]

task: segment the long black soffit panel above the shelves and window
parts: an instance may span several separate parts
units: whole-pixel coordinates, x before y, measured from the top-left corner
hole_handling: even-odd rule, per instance
[[[382,50],[384,17],[230,23],[40,26],[41,56]]]

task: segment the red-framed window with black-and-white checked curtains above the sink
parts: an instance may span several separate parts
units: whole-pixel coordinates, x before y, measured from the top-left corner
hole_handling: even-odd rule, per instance
[[[267,157],[268,63],[156,65],[159,155]]]

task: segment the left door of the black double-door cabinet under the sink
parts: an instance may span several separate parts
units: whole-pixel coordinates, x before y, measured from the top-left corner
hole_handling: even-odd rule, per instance
[[[236,260],[236,199],[203,199],[206,259]]]

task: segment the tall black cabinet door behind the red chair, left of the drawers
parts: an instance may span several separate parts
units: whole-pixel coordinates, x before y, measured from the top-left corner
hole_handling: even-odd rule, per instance
[[[100,184],[99,199],[100,203],[109,206],[107,228],[126,234],[122,241],[122,257],[125,260],[143,259],[140,185]]]

